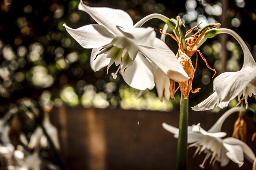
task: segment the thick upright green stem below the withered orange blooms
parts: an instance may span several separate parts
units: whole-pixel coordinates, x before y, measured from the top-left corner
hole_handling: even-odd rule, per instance
[[[179,124],[179,138],[178,138],[178,152],[177,152],[177,170],[187,169],[188,159],[188,99],[180,98],[180,124]]]

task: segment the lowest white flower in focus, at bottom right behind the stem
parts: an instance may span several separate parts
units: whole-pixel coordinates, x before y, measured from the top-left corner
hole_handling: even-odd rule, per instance
[[[246,143],[233,137],[222,139],[222,137],[226,136],[226,133],[220,131],[224,120],[230,114],[241,110],[241,107],[229,109],[208,131],[202,129],[200,123],[188,127],[188,143],[192,143],[188,147],[197,147],[194,156],[201,152],[206,154],[204,161],[200,164],[201,168],[204,168],[204,163],[210,157],[210,164],[214,164],[217,160],[222,167],[226,166],[230,160],[240,167],[244,163],[244,157],[253,163],[255,155]],[[167,125],[166,123],[163,123],[162,126],[167,131],[173,133],[174,137],[178,138],[178,128]]]

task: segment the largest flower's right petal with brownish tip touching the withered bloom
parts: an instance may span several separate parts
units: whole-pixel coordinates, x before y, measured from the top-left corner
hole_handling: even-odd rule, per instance
[[[174,53],[163,41],[155,38],[154,47],[155,49],[147,49],[139,46],[139,51],[163,70],[168,78],[176,82],[183,82],[189,79],[188,74],[184,71],[180,63],[178,63]]]

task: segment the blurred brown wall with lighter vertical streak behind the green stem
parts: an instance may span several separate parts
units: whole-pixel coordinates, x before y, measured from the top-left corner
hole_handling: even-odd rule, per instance
[[[201,123],[208,130],[220,117],[220,113],[189,113],[189,125]],[[162,128],[162,123],[178,127],[177,111],[158,112],[123,109],[95,109],[62,106],[54,108],[51,121],[58,130],[61,143],[61,158],[67,170],[173,170],[176,167],[177,139]],[[226,119],[223,131],[232,135],[237,114]],[[248,145],[256,150],[250,136],[256,131],[252,120],[245,117],[248,128]],[[139,124],[138,124],[139,122]],[[188,170],[200,169],[205,154],[192,157],[195,148],[188,150]],[[252,165],[230,161],[220,168],[205,164],[206,170],[250,170]]]

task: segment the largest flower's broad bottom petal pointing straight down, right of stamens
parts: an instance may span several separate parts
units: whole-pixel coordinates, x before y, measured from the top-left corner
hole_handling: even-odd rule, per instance
[[[122,69],[121,69],[122,70]],[[154,88],[153,68],[150,62],[140,53],[136,56],[131,66],[122,71],[124,81],[139,90]]]

